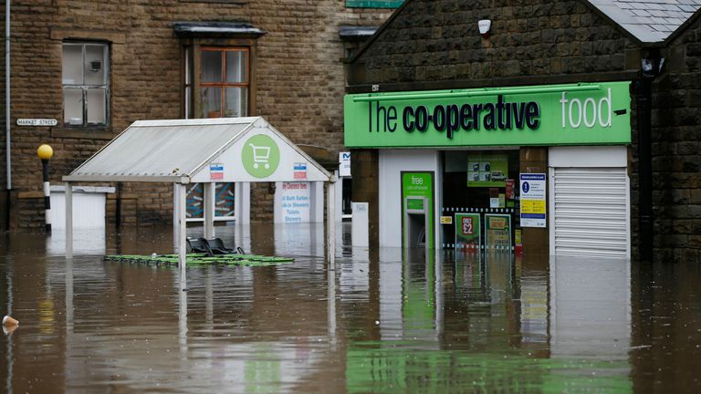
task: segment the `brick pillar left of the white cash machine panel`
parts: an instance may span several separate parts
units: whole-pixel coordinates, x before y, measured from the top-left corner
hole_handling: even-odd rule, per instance
[[[380,166],[378,150],[351,150],[352,202],[370,204],[370,246],[380,244]]]

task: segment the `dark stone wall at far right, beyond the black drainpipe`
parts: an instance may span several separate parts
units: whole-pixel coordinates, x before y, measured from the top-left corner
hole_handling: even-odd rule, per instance
[[[666,48],[653,84],[654,252],[701,262],[701,22]]]

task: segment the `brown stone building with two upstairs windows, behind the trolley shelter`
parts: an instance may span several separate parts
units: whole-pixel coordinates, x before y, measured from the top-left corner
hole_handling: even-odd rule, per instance
[[[263,116],[317,158],[338,158],[345,85],[340,59],[399,4],[10,2],[11,93],[9,119],[2,111],[7,126],[0,137],[5,161],[0,228],[42,226],[40,144],[55,151],[50,175],[56,183],[137,119]],[[5,70],[5,57],[2,66]],[[0,85],[5,108],[5,78]],[[22,126],[17,119],[57,124]],[[170,185],[113,186],[109,222],[171,220]],[[253,188],[252,216],[272,213],[270,190]]]

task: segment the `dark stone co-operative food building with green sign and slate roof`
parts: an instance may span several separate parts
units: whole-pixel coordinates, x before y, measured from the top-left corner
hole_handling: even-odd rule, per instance
[[[348,64],[371,239],[698,262],[699,6],[407,0]]]

